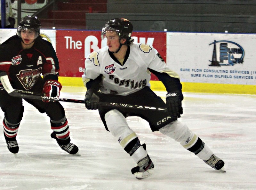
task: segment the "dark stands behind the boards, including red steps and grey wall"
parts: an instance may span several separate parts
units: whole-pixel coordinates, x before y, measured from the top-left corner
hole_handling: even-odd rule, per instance
[[[256,0],[49,0],[42,27],[101,30],[124,17],[134,31],[256,33]]]

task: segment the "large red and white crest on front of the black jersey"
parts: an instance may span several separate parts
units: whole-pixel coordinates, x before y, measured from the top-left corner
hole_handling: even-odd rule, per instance
[[[31,89],[42,72],[42,68],[38,68],[36,70],[28,69],[28,70],[21,70],[18,75],[16,75],[26,90]]]

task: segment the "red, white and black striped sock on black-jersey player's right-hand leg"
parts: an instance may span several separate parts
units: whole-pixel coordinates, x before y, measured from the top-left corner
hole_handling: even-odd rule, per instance
[[[66,117],[59,121],[51,120],[51,128],[53,130],[53,134],[51,136],[52,138],[55,138],[58,143],[63,145],[70,143],[69,126]]]

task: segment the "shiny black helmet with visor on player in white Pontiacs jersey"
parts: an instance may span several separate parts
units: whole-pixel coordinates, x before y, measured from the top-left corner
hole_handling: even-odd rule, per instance
[[[113,18],[108,20],[105,27],[101,31],[101,39],[104,39],[104,35],[107,30],[116,31],[119,38],[127,39],[127,42],[131,39],[133,26],[132,23],[125,18]]]

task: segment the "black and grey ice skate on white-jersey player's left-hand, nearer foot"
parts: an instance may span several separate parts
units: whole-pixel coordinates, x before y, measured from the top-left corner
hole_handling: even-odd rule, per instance
[[[146,150],[146,144],[142,144],[143,148]],[[147,155],[147,157],[141,159],[137,166],[132,168],[132,174],[137,179],[143,179],[148,177],[154,169],[154,164],[151,161],[150,157]]]

